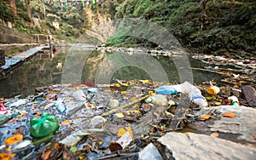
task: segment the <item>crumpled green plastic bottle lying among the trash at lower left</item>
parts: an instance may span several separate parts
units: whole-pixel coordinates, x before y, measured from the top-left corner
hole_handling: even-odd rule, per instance
[[[37,138],[53,134],[59,128],[58,119],[47,112],[44,112],[42,117],[34,117],[30,124],[30,134]]]

